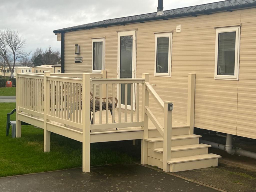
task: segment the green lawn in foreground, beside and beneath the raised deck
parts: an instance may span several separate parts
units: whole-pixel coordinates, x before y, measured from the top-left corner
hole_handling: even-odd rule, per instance
[[[32,125],[22,126],[22,137],[6,137],[6,114],[15,103],[0,103],[0,177],[46,172],[82,166],[82,143],[53,134],[50,152],[43,152],[43,130]],[[15,120],[15,115],[11,117]],[[132,163],[136,158],[127,153],[139,151],[132,142],[91,144],[91,166]],[[122,149],[122,151],[120,150]]]

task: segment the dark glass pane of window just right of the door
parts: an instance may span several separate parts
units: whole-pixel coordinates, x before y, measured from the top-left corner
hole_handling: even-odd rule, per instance
[[[156,45],[156,72],[168,73],[169,37],[158,37]]]

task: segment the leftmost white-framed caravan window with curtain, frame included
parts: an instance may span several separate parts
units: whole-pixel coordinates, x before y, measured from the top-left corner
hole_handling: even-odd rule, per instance
[[[92,72],[101,72],[105,66],[105,39],[92,39]]]

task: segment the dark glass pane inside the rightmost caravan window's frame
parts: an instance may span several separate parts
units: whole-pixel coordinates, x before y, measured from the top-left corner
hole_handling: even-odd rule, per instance
[[[236,32],[219,33],[218,75],[234,75]]]

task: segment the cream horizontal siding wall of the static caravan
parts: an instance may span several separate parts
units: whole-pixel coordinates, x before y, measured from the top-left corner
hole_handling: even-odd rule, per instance
[[[182,32],[176,33],[176,25]],[[215,80],[215,27],[241,24],[239,81]],[[107,78],[116,78],[117,31],[137,30],[136,73],[150,73],[161,98],[174,102],[173,120],[186,123],[187,76],[196,73],[195,127],[256,138],[256,8],[65,33],[65,73],[91,71],[92,38],[105,38]],[[154,76],[155,34],[173,31],[172,77]],[[83,63],[74,63],[74,44]],[[248,89],[249,88],[249,89]],[[162,111],[150,98],[150,108]]]

